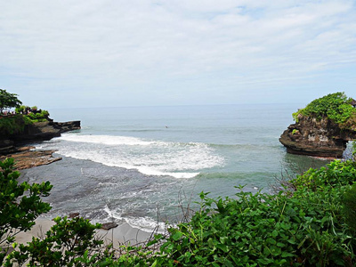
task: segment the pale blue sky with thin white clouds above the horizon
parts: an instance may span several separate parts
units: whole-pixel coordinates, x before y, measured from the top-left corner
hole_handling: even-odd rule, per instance
[[[356,2],[0,0],[0,88],[43,109],[356,99]]]

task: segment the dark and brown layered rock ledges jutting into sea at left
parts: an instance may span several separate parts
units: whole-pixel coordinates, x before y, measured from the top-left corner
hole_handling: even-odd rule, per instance
[[[0,136],[0,160],[14,158],[18,170],[51,164],[61,160],[53,157],[54,150],[35,150],[35,147],[28,144],[48,141],[61,136],[62,133],[80,128],[80,121],[59,123],[48,120],[25,125],[20,134]]]

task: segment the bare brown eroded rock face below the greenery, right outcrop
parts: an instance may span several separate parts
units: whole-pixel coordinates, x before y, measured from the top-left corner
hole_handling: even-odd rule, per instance
[[[347,142],[356,139],[356,131],[340,129],[328,118],[298,118],[299,122],[289,125],[279,138],[288,153],[342,158]]]

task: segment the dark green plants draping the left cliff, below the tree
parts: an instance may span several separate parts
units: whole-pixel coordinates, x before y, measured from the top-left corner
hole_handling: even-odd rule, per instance
[[[14,116],[0,117],[0,135],[9,136],[12,134],[21,134],[25,125],[32,124],[32,121],[20,114]]]

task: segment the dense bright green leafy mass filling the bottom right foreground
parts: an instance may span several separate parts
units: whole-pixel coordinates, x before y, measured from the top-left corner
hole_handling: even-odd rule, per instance
[[[180,266],[354,264],[341,200],[355,181],[355,164],[335,161],[292,181],[294,192],[240,191],[236,199],[201,193],[200,211],[170,230],[161,254]]]

